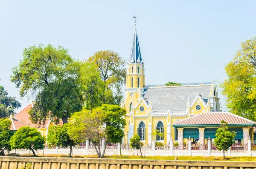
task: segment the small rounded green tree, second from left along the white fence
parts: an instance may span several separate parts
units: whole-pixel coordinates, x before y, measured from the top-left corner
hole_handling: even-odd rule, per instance
[[[12,149],[29,149],[35,156],[34,150],[44,149],[45,140],[37,129],[23,126],[11,137],[10,145]]]

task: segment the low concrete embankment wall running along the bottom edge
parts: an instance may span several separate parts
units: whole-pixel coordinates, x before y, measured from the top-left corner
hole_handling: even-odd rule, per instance
[[[2,157],[0,169],[256,169],[256,162]]]

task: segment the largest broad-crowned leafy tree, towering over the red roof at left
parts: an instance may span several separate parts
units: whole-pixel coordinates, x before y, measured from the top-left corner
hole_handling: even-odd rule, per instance
[[[81,62],[71,58],[67,49],[52,45],[29,46],[23,59],[12,69],[11,80],[20,88],[20,96],[35,97],[29,111],[33,123],[45,123],[51,117],[67,123],[84,103],[79,85]],[[49,113],[51,112],[51,113]]]

